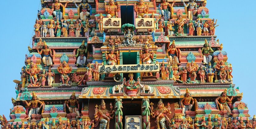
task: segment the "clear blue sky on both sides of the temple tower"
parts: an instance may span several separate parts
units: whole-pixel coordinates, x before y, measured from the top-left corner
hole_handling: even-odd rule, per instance
[[[232,4],[233,3],[233,4]],[[2,1],[0,12],[0,114],[9,117],[12,108],[11,98],[16,97],[15,83],[20,80],[21,67],[24,65],[27,46],[31,46],[34,35],[34,22],[40,0]],[[233,66],[233,80],[240,92],[244,92],[243,102],[248,104],[251,117],[256,114],[254,96],[255,76],[255,8],[248,2],[238,0],[208,0],[210,18],[218,19],[217,39],[223,43],[228,53],[228,62]]]

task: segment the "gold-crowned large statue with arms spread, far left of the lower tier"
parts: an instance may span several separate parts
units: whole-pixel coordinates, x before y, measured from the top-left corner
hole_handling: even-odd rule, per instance
[[[32,100],[30,100],[29,102],[23,100],[23,102],[25,102],[28,107],[31,107],[27,119],[31,119],[32,114],[38,114],[41,107],[43,106],[43,103],[40,100],[38,100],[34,91],[32,92]],[[38,104],[40,104],[40,107],[38,107]]]

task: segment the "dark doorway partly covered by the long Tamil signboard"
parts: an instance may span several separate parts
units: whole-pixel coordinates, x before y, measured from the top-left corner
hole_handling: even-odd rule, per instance
[[[137,64],[137,52],[123,53],[123,64]],[[129,73],[123,73],[126,81],[129,80]],[[133,73],[133,80],[137,81],[137,73]]]

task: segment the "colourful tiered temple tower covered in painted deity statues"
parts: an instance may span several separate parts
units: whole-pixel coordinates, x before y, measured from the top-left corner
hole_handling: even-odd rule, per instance
[[[206,0],[41,0],[37,16],[1,129],[256,127]]]

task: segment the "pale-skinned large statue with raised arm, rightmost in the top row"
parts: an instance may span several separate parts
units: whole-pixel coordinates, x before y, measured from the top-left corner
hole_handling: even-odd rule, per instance
[[[187,17],[188,19],[193,19],[193,15],[195,15],[197,13],[197,3],[195,2],[195,0],[189,0],[190,2],[187,3],[187,5],[185,4],[185,2],[183,0],[181,0],[181,2],[183,2],[183,5],[185,6],[185,8],[187,9],[188,7],[188,11],[187,11]]]

